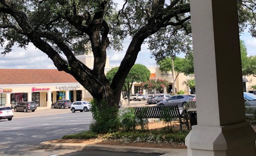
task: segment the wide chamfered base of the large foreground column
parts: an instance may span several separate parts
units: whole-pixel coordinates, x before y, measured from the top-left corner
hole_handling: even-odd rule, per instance
[[[188,156],[255,156],[256,133],[249,122],[193,126],[185,139]]]

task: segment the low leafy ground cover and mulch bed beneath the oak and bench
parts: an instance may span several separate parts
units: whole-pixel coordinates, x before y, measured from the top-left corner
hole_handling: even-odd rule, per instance
[[[174,131],[162,128],[160,130],[132,130],[130,132],[113,132],[106,134],[96,134],[91,131],[84,131],[77,134],[65,135],[62,139],[106,139],[116,140],[124,143],[176,143],[184,144],[185,137],[189,131]]]

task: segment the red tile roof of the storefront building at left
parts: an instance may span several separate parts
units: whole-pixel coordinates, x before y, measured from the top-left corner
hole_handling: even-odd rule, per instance
[[[57,69],[0,69],[0,85],[72,82],[77,80]]]

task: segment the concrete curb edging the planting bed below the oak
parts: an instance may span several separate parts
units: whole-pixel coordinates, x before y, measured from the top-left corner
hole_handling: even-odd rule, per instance
[[[117,146],[117,145],[98,145],[86,143],[48,143],[42,142],[39,148],[43,149],[71,149],[71,150],[103,150],[113,152],[135,152],[135,153],[159,153],[159,154],[177,154],[187,151],[187,149],[173,148],[148,148],[148,147],[133,147],[133,146]]]

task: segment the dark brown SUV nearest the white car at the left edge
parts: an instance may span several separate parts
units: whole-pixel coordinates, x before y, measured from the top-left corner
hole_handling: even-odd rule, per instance
[[[37,104],[34,101],[20,102],[20,103],[16,104],[13,109],[15,112],[18,112],[18,111],[35,112],[35,110],[37,109]]]

